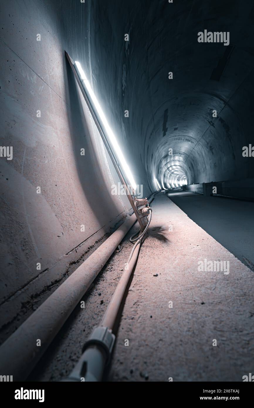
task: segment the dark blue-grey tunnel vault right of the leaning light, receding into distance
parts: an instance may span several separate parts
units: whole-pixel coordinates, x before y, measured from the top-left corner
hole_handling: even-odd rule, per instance
[[[252,1],[244,10],[226,3],[93,4],[93,19],[100,21],[94,53],[104,73],[93,72],[97,92],[137,179],[144,167],[152,191],[155,178],[163,188],[253,176],[242,147],[253,126],[254,28],[246,21],[254,8]],[[197,33],[205,29],[229,31],[230,44],[199,43]]]

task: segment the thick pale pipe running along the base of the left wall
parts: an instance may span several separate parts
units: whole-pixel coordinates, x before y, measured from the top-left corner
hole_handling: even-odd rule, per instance
[[[28,377],[136,220],[133,214],[2,344],[0,373],[13,375],[13,381]],[[36,346],[37,339],[41,340],[40,347]]]

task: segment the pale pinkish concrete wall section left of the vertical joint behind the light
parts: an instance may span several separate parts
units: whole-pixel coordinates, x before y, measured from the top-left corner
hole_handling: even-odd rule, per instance
[[[64,56],[86,60],[92,84],[90,11],[75,1],[1,4],[1,146],[13,146],[13,160],[0,160],[0,342],[130,209],[111,194],[119,178]]]

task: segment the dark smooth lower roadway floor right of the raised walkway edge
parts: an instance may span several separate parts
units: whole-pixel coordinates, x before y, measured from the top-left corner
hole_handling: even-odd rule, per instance
[[[168,193],[188,217],[254,271],[254,203],[205,197],[190,191]]]

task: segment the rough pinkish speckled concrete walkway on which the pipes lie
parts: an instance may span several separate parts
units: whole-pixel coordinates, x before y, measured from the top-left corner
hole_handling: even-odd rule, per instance
[[[105,379],[242,381],[253,372],[253,272],[165,195],[155,198],[152,210]],[[75,309],[30,379],[53,381],[70,373],[117,286],[135,230],[102,270],[84,299],[85,310]],[[229,261],[230,273],[198,272],[205,258]]]

